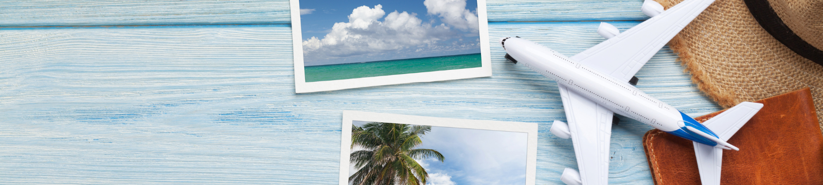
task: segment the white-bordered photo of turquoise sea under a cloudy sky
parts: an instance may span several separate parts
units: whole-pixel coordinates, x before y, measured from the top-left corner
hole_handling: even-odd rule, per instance
[[[297,93],[491,76],[483,0],[291,0]]]

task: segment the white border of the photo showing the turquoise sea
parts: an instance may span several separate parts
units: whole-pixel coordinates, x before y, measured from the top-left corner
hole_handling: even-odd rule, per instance
[[[489,21],[486,16],[486,0],[477,0],[477,21],[479,21],[480,25],[481,67],[314,82],[305,82],[303,34],[300,31],[300,1],[289,0],[289,2],[291,5],[291,39],[295,60],[295,93],[491,76],[491,49],[489,48]]]

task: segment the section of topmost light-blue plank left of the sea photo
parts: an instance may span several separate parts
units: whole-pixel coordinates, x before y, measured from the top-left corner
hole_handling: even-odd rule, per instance
[[[288,0],[6,1],[0,26],[289,23]]]

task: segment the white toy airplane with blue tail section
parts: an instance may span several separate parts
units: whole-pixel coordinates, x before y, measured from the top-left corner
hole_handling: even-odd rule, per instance
[[[569,124],[555,121],[551,132],[571,138],[578,168],[566,168],[566,184],[607,184],[613,113],[619,113],[695,145],[703,184],[720,184],[723,149],[738,150],[726,141],[763,104],[744,102],[701,124],[635,86],[635,73],[714,0],[686,0],[663,11],[646,0],[642,12],[652,18],[620,33],[601,23],[597,33],[607,40],[571,58],[527,39],[504,38],[500,44],[510,62],[521,62],[557,82]]]

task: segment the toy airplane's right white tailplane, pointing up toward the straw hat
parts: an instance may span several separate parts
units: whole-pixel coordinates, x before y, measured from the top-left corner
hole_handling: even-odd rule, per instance
[[[743,102],[713,118],[709,118],[703,125],[716,133],[720,140],[728,141],[737,130],[740,130],[740,127],[749,122],[749,119],[762,108],[763,104]]]

